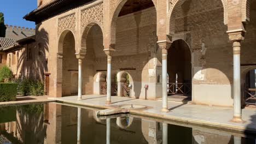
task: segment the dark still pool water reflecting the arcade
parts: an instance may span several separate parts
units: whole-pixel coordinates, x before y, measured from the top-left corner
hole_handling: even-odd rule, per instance
[[[0,143],[255,144],[236,134],[135,115],[97,117],[96,109],[49,104],[0,107]]]

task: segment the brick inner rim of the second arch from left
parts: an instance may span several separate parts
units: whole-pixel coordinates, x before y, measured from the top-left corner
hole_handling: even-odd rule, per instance
[[[82,31],[83,32],[82,39],[81,39],[81,49],[82,50],[86,50],[86,40],[88,37],[88,33],[90,32],[91,27],[94,25],[98,25],[101,28],[101,32],[103,32],[100,22],[91,21]]]

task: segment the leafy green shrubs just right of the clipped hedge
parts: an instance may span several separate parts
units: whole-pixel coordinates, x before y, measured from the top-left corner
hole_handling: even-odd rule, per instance
[[[18,83],[18,94],[20,95],[43,95],[44,84],[40,80],[30,79],[28,77],[22,77],[14,80]]]

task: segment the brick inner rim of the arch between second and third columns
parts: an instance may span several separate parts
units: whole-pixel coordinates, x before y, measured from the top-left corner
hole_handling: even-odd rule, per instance
[[[127,2],[127,0],[121,0],[118,4],[117,7],[114,10],[113,16],[112,16],[112,20],[110,20],[111,24],[110,24],[110,45],[114,45],[115,44],[115,38],[116,38],[116,29],[117,29],[117,19],[118,19],[118,15],[121,11],[121,9],[124,7],[124,4]],[[156,2],[152,0],[152,2],[154,3],[154,5],[156,5]],[[155,7],[156,9],[156,7]],[[112,47],[114,48],[114,47]]]

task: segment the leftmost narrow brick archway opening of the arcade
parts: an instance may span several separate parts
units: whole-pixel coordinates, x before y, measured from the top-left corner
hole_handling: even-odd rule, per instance
[[[57,86],[57,97],[69,96],[73,93],[75,87],[71,88],[71,86],[74,71],[78,71],[75,37],[72,31],[65,29],[59,37],[57,53],[57,85],[60,85]]]

